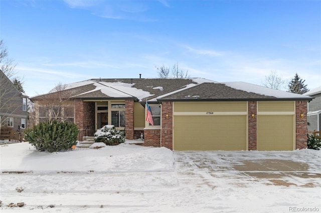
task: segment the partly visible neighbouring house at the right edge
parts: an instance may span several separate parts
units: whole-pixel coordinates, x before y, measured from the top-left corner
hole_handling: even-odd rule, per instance
[[[307,131],[321,131],[321,86],[303,95],[314,98],[307,104]]]

